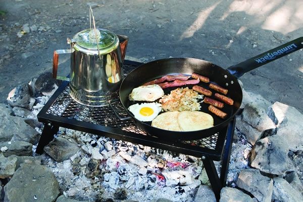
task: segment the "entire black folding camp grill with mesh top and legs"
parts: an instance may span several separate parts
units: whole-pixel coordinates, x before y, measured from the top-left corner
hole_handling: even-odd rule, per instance
[[[140,63],[125,61],[125,73],[136,68]],[[118,94],[116,94],[118,98]],[[120,102],[114,107],[120,116],[127,116]],[[89,107],[76,103],[69,94],[68,82],[64,82],[47,104],[37,115],[38,121],[44,123],[44,129],[37,145],[36,153],[41,154],[43,148],[57,134],[59,127],[65,127],[100,136],[129,141],[155,148],[173,151],[178,154],[191,155],[202,159],[207,175],[217,200],[220,191],[226,184],[229,165],[230,148],[233,138],[235,120],[216,134],[198,140],[168,141],[146,134],[131,120],[119,120],[111,107]],[[226,141],[225,141],[226,140]],[[214,161],[222,159],[220,178]]]

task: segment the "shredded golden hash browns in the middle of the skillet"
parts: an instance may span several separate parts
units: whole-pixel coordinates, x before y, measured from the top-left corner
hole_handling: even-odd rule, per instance
[[[168,111],[199,111],[201,106],[198,99],[203,98],[196,91],[186,88],[177,88],[160,99],[162,109]]]

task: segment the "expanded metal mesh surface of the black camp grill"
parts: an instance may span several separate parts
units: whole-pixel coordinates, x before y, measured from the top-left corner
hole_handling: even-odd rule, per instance
[[[131,70],[136,68],[131,65],[124,65],[123,69],[125,73],[129,73]],[[116,94],[118,97],[118,93]],[[118,111],[121,117],[126,117],[122,104],[120,102],[113,103],[113,106]],[[69,95],[69,87],[67,86],[60,95],[56,98],[55,102],[46,111],[46,114],[64,117],[67,119],[74,119],[77,121],[84,121],[92,124],[108,126],[113,128],[119,128],[124,131],[129,131],[137,134],[147,135],[144,131],[134,125],[131,120],[119,120],[114,114],[110,106],[106,107],[88,107],[78,104]],[[200,147],[206,147],[209,149],[216,149],[219,134],[216,133],[210,137],[192,140],[192,141],[180,141],[181,143],[195,145]]]

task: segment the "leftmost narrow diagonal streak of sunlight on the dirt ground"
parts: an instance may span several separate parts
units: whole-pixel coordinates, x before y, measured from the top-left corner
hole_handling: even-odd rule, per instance
[[[184,38],[189,38],[193,36],[193,34],[201,29],[203,27],[205,21],[208,19],[209,15],[212,13],[212,11],[221,3],[221,1],[217,2],[213,6],[201,11],[197,17],[197,19],[190,25],[190,27],[183,32],[183,34],[180,36],[179,40],[182,40]]]

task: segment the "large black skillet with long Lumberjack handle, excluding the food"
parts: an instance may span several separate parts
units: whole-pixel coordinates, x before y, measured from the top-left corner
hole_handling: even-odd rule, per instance
[[[193,58],[168,58],[163,60],[152,61],[139,66],[124,78],[119,91],[120,101],[127,113],[130,115],[130,118],[133,119],[135,125],[140,127],[142,130],[146,131],[150,135],[169,140],[193,140],[209,137],[217,133],[226,125],[228,125],[228,123],[232,120],[232,118],[236,115],[237,111],[240,108],[242,102],[242,89],[237,79],[246,72],[249,72],[257,67],[260,67],[278,58],[286,56],[292,52],[298,51],[300,48],[303,47],[302,43],[303,37],[297,38],[281,46],[273,48],[268,52],[260,54],[254,58],[248,59],[237,65],[233,65],[227,68],[226,70],[210,62]],[[179,73],[191,75],[191,73],[193,72],[209,77],[211,82],[227,88],[227,96],[234,100],[233,106],[228,106],[225,104],[224,108],[222,109],[223,112],[228,114],[227,118],[225,119],[221,119],[216,115],[212,114],[207,109],[209,105],[201,103],[200,111],[209,113],[213,116],[213,127],[204,130],[189,132],[163,130],[151,126],[151,122],[142,122],[135,119],[133,114],[128,111],[129,106],[134,105],[136,103],[144,103],[132,102],[129,100],[128,95],[131,93],[133,88],[136,88],[147,81],[154,80],[165,75]],[[209,83],[200,82],[198,85],[209,89]],[[192,85],[182,87],[191,88]],[[176,88],[177,87],[166,88],[164,89],[164,92],[165,94],[169,94],[171,90]],[[212,91],[214,94],[215,91]]]

